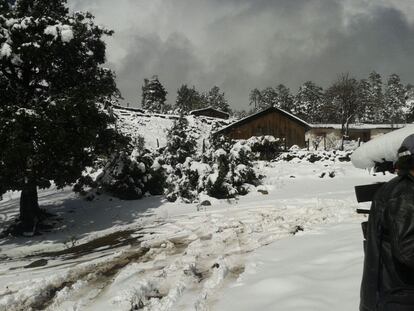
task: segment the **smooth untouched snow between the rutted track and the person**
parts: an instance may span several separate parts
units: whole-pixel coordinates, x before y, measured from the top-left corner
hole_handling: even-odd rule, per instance
[[[299,233],[257,250],[214,310],[358,310],[362,274],[358,223]]]

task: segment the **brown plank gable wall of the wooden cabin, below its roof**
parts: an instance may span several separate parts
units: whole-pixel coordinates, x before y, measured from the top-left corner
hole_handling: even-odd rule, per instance
[[[226,135],[232,139],[249,139],[252,136],[272,135],[285,138],[287,147],[305,147],[306,128],[277,111],[252,118],[230,128]]]

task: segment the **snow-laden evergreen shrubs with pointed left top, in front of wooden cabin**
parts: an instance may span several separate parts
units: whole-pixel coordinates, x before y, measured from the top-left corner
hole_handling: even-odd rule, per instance
[[[183,135],[185,127],[185,122],[177,121],[158,160],[166,169],[165,195],[169,201],[180,198],[192,202],[202,193],[230,198],[247,193],[248,184],[258,184],[252,168],[254,154],[248,145],[219,137],[199,155],[194,138]]]

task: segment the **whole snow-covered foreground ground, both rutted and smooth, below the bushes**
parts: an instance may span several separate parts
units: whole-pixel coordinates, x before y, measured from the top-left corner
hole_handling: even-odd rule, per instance
[[[0,240],[0,310],[355,310],[364,216],[353,187],[392,176],[349,162],[257,169],[263,186],[207,207],[42,191],[55,229]],[[17,212],[6,194],[0,221]]]

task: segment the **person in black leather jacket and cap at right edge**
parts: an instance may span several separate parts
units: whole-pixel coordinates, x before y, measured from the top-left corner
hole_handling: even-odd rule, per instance
[[[414,311],[414,135],[398,150],[396,171],[372,201],[360,311]]]

